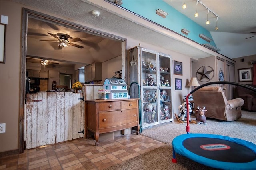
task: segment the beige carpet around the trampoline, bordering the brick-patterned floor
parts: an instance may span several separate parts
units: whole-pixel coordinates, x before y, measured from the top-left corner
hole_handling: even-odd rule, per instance
[[[195,120],[195,117],[192,117]],[[256,144],[256,112],[242,111],[242,118],[233,122],[218,122],[207,119],[207,125],[190,124],[191,133],[207,133],[230,136]],[[186,124],[179,124],[174,118],[173,123],[166,123],[147,128],[140,135],[166,143],[166,146],[136,156],[106,170],[216,170],[198,164],[184,156],[176,154],[178,163],[172,163],[172,140],[186,134]]]

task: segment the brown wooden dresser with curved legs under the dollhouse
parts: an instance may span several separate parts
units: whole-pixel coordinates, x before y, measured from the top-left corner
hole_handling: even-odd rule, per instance
[[[84,100],[86,138],[94,133],[98,146],[99,134],[132,128],[139,124],[139,99]]]

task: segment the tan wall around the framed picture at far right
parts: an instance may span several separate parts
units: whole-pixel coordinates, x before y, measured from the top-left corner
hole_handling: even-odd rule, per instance
[[[241,59],[244,59],[244,62],[241,61]],[[241,68],[252,68],[253,65],[251,64],[250,61],[256,61],[256,54],[252,56],[246,56],[246,57],[239,57],[239,58],[234,58],[236,61],[235,65],[235,80],[238,82],[238,69]],[[240,82],[241,84],[252,84],[252,82]]]

